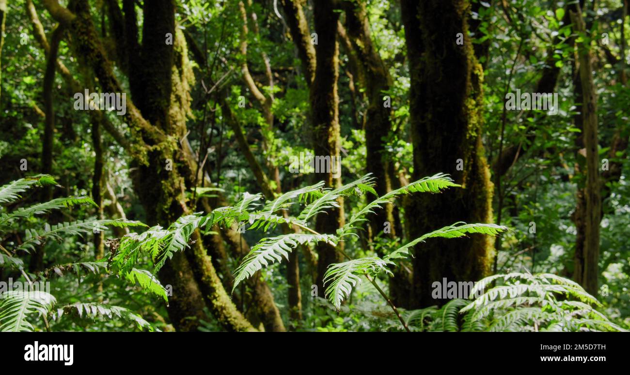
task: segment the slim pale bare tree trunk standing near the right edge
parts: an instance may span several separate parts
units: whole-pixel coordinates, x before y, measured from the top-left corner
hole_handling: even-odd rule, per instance
[[[571,10],[571,21],[575,26],[575,30],[585,35],[586,26],[579,4],[575,5],[575,9],[575,11]],[[581,249],[581,254],[578,254],[578,249],[576,249],[574,278],[588,293],[596,294],[599,277],[599,232],[602,210],[597,140],[597,98],[595,85],[593,84],[592,56],[589,46],[585,45],[584,42],[578,43],[578,56],[580,62],[583,143],[586,149],[587,179],[584,190],[586,206],[583,212],[585,214],[583,216],[585,229],[584,247]]]

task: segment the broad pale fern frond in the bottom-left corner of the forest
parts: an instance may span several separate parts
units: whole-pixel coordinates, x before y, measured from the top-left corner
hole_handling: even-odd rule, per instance
[[[33,313],[47,315],[55,297],[44,291],[8,291],[0,294],[0,332],[33,331],[26,317]]]

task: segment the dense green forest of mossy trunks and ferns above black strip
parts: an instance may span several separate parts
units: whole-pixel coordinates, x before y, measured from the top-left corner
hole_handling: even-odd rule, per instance
[[[630,329],[628,0],[0,0],[0,331]]]

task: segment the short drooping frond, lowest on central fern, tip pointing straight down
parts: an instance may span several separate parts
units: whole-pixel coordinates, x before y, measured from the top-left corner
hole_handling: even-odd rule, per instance
[[[324,274],[324,285],[328,284],[326,298],[339,310],[341,302],[352,293],[353,286],[360,283],[360,276],[365,274],[374,276],[383,271],[392,274],[387,269],[388,264],[393,263],[379,257],[365,257],[331,264]]]

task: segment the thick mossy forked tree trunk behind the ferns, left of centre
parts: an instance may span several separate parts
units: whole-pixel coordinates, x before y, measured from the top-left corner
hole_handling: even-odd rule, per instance
[[[91,20],[88,3],[72,0],[69,9],[55,0],[42,3],[57,21],[67,25],[76,56],[82,65],[93,70],[100,89],[122,92]],[[143,69],[142,72],[133,70],[140,77],[132,75],[134,79],[130,82],[137,88],[132,89],[134,94],[144,92],[146,96],[138,98],[139,107],[127,97],[125,120],[134,142],[129,142],[126,151],[132,164],[138,166],[134,187],[145,207],[147,221],[169,225],[179,216],[190,213],[185,189],[192,186],[195,179],[186,170],[186,155],[178,143],[185,128],[173,127],[169,121],[169,111],[185,111],[185,108],[170,106],[173,86],[182,91],[187,86],[181,81],[172,81],[174,46],[165,43],[166,33],[175,36],[175,5],[172,0],[158,3],[144,7],[145,27],[139,57]],[[181,47],[185,50],[185,44]],[[196,329],[200,319],[208,319],[203,312],[207,306],[224,329],[254,330],[223,289],[198,233],[193,233],[192,240],[191,249],[176,253],[159,273],[163,284],[173,287],[168,308],[173,325],[178,330]]]

